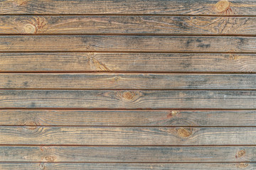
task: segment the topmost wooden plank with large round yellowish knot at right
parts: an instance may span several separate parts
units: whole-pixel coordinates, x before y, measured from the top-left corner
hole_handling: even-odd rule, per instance
[[[255,16],[255,0],[4,0],[0,14],[169,14]]]

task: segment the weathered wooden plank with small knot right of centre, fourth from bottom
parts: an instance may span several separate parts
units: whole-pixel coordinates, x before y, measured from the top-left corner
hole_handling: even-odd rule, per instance
[[[256,111],[0,110],[0,125],[255,126]]]

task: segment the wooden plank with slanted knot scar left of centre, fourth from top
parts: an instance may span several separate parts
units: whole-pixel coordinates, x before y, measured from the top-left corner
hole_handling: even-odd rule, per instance
[[[0,53],[0,72],[256,72],[255,54]]]

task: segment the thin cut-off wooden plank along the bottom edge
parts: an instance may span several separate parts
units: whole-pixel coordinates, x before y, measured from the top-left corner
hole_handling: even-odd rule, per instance
[[[255,163],[0,163],[2,170],[70,170],[70,169],[157,169],[157,170],[252,170]]]

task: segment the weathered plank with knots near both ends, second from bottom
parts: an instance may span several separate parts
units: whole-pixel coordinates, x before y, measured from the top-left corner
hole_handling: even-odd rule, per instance
[[[255,147],[0,147],[1,162],[255,162]]]

